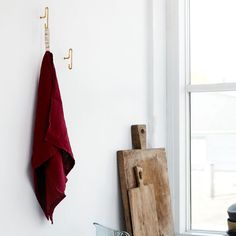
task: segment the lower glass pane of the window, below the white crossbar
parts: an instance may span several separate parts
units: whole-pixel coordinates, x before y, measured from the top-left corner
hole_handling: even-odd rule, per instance
[[[236,92],[191,94],[191,216],[194,230],[227,230],[236,203]]]

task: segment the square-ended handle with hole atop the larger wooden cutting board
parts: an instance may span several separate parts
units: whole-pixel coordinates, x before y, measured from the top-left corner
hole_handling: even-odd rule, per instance
[[[146,125],[131,126],[133,149],[146,149]]]

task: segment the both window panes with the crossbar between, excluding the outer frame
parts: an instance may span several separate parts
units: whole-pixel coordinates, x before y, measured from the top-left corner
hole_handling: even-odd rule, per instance
[[[235,12],[235,0],[190,0],[192,230],[226,231],[236,201]]]

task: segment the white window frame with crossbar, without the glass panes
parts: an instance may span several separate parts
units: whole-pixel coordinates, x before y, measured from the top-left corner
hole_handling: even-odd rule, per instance
[[[166,0],[166,147],[175,232],[224,235],[219,231],[190,230],[189,94],[235,91],[236,83],[190,85],[189,1]]]

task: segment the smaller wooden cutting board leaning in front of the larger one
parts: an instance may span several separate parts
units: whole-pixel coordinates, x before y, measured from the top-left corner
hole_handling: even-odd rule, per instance
[[[156,199],[153,184],[144,185],[143,170],[135,166],[138,187],[128,190],[134,236],[159,236]]]

